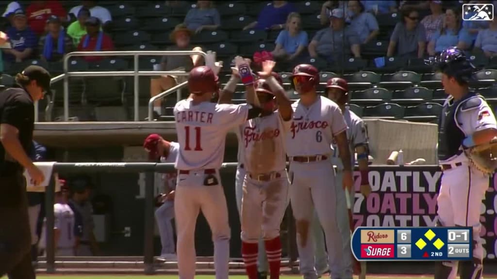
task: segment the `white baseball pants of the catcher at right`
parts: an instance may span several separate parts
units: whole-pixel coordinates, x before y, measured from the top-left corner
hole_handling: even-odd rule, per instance
[[[483,261],[480,230],[480,205],[489,187],[489,176],[463,162],[444,170],[437,198],[438,221],[446,227],[473,227],[473,257]],[[455,278],[458,265],[454,262],[448,279]]]

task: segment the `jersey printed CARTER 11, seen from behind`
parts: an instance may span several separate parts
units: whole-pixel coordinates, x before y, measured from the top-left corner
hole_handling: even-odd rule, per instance
[[[250,105],[229,105],[192,99],[179,101],[174,120],[179,142],[178,170],[219,169],[224,159],[226,134],[247,121]]]

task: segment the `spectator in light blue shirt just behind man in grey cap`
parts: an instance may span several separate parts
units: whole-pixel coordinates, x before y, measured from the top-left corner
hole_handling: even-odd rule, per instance
[[[359,36],[361,44],[375,39],[380,33],[378,21],[371,13],[364,12],[364,5],[361,1],[348,1],[348,15],[350,16],[350,26]]]

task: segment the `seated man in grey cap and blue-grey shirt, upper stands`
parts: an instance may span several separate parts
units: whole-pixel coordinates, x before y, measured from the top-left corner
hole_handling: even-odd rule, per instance
[[[330,27],[319,30],[309,43],[309,55],[329,62],[351,54],[360,57],[359,37],[350,26],[345,27],[343,9],[333,9],[330,18]]]

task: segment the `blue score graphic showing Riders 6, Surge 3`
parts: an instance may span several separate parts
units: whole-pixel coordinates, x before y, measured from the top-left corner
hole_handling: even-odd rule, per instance
[[[467,261],[471,227],[358,227],[351,247],[358,261]]]

